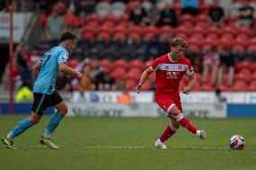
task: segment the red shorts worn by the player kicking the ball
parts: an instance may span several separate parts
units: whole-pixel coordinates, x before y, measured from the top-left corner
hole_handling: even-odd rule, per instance
[[[176,106],[180,112],[182,112],[182,107],[180,103],[180,97],[171,96],[171,95],[156,95],[156,102],[159,104],[160,108],[162,108],[165,112],[168,112]]]

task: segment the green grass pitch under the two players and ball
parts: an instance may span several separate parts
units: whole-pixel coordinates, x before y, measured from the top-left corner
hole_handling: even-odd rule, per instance
[[[25,116],[0,116],[0,135],[12,130]],[[15,139],[17,150],[0,148],[0,169],[19,170],[252,170],[256,169],[256,119],[191,119],[207,138],[198,139],[180,128],[166,144],[154,148],[167,118],[66,117],[53,134],[58,150],[38,140],[49,116]],[[245,139],[243,150],[232,150],[235,134]]]

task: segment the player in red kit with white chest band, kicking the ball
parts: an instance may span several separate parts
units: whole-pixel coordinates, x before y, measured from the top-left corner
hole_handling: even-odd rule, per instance
[[[191,131],[201,139],[206,138],[204,130],[197,130],[194,125],[182,115],[182,107],[179,96],[179,82],[185,74],[189,77],[189,83],[182,91],[189,94],[193,86],[196,85],[196,77],[191,67],[190,61],[185,58],[184,52],[187,48],[187,41],[176,38],[170,41],[170,52],[156,58],[151,67],[143,73],[139,84],[135,90],[139,94],[142,85],[146,82],[152,72],[156,71],[156,91],[155,100],[170,119],[170,124],[155,142],[157,148],[166,148],[164,141],[169,139],[179,128],[179,125]]]

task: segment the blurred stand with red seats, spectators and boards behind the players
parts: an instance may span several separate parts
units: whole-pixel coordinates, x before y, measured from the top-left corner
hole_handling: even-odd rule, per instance
[[[0,114],[31,112],[32,65],[72,31],[78,47],[68,65],[87,76],[58,78],[69,115],[164,115],[154,103],[155,74],[142,94],[134,87],[181,37],[197,76],[192,93],[181,94],[184,114],[256,117],[255,7],[254,0],[0,0]],[[180,88],[187,83],[184,76]]]

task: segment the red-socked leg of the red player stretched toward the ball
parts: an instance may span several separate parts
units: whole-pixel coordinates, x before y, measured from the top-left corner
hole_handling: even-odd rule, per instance
[[[191,131],[192,133],[196,134],[201,139],[206,138],[206,132],[204,130],[197,130],[197,128],[187,120],[186,117],[178,110],[177,106],[174,106],[169,111],[169,116],[173,116],[183,128]]]

